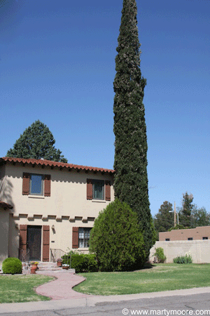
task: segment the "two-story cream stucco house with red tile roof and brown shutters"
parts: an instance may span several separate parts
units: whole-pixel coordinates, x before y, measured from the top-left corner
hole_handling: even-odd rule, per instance
[[[114,200],[113,170],[48,160],[0,159],[0,263],[29,252],[88,251],[90,229]],[[29,249],[29,250],[27,250]]]

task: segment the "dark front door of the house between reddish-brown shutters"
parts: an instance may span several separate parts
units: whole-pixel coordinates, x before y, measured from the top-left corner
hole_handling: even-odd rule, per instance
[[[29,261],[41,261],[41,226],[27,226]]]

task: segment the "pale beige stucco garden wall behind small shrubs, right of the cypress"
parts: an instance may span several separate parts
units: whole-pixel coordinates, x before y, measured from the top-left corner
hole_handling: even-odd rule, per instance
[[[174,242],[156,242],[151,249],[149,260],[153,262],[155,248],[162,247],[167,257],[166,263],[173,263],[177,256],[190,254],[193,263],[210,263],[210,240],[185,240]]]

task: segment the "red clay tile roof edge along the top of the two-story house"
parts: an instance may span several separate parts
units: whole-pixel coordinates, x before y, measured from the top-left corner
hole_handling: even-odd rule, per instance
[[[104,169],[104,168],[96,168],[92,166],[79,166],[78,164],[66,164],[65,162],[52,162],[51,160],[44,159],[23,159],[23,158],[10,158],[3,157],[0,158],[1,162],[13,162],[13,163],[21,163],[21,164],[30,164],[31,166],[50,166],[50,167],[58,167],[58,168],[66,168],[66,169],[76,169],[76,170],[85,170],[85,171],[100,171],[107,173],[114,173],[112,169]]]

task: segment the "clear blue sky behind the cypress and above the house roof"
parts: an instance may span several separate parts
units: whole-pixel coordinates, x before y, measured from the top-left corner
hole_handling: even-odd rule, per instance
[[[184,192],[210,211],[210,1],[137,0],[151,213]],[[0,3],[0,157],[34,121],[69,163],[113,168],[123,0]]]

